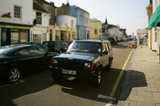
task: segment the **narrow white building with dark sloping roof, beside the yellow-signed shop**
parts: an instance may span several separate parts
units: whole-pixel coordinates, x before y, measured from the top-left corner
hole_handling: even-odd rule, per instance
[[[31,28],[30,41],[42,43],[51,40],[49,30],[50,14],[47,13],[36,1],[33,2],[34,26]]]

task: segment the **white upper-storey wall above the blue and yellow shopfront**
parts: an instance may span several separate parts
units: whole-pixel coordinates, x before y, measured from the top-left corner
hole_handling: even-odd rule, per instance
[[[22,10],[21,19],[14,18],[14,5],[20,6]],[[7,6],[7,7],[6,7]],[[0,18],[0,22],[9,22],[17,24],[32,25],[32,8],[33,0],[1,0],[0,16],[8,12],[11,13],[11,18]]]

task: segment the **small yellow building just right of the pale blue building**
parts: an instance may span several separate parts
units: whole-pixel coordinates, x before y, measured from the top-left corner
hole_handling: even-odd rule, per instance
[[[97,19],[90,20],[91,36],[90,39],[99,39],[102,35],[102,23]]]

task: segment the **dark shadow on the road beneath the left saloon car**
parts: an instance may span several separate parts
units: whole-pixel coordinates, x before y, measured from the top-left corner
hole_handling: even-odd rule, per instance
[[[17,84],[0,85],[1,106],[16,106],[13,102],[14,99],[47,89],[54,83],[49,71],[35,73],[31,76],[24,77],[21,81]]]

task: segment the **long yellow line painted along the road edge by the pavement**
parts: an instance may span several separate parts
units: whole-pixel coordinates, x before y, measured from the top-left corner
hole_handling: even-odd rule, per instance
[[[110,94],[111,97],[113,97],[113,96],[115,95],[115,92],[116,92],[116,90],[117,90],[118,84],[119,84],[119,82],[120,82],[120,80],[121,80],[121,78],[122,78],[123,72],[124,72],[124,70],[125,70],[125,68],[126,68],[126,66],[127,66],[127,63],[128,63],[128,61],[129,61],[129,59],[130,59],[133,51],[134,51],[134,49],[132,49],[132,51],[130,52],[127,60],[125,61],[125,64],[123,65],[123,68],[122,68],[122,70],[121,70],[121,72],[120,72],[120,74],[119,74],[119,76],[118,76],[118,78],[117,78],[117,81],[116,81],[116,83],[114,84],[114,86],[113,86],[113,88],[112,88],[112,91],[111,91],[111,94]]]

